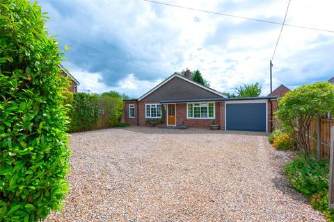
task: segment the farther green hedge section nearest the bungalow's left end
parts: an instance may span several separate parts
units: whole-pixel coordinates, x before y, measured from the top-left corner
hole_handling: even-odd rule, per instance
[[[109,96],[109,94],[102,94],[100,105],[106,126],[118,126],[124,108],[122,99]]]

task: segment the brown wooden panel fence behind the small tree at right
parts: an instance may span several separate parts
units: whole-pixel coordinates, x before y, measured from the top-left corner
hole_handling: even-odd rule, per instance
[[[321,159],[329,159],[332,126],[334,126],[334,119],[312,120],[310,126],[310,146]]]

